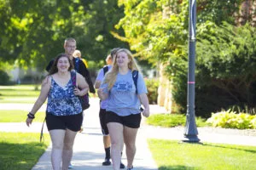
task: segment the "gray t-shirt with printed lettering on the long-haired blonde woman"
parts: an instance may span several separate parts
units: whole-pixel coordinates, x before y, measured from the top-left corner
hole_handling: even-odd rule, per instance
[[[137,94],[148,93],[141,73],[138,74],[137,78],[137,94],[131,71],[128,71],[125,75],[118,73],[116,82],[110,91],[108,91],[108,84],[103,82],[104,81],[102,81],[101,88],[104,88],[104,93],[108,93],[107,111],[113,111],[119,116],[129,116],[141,112],[139,110],[141,102]]]

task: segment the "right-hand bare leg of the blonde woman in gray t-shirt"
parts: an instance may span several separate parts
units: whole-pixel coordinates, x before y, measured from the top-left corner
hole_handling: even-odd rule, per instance
[[[127,167],[132,167],[136,153],[137,128],[124,127],[124,140],[126,146]]]

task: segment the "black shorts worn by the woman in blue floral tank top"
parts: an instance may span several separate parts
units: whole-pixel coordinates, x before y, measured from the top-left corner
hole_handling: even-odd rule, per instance
[[[81,129],[83,123],[83,114],[79,113],[77,115],[71,116],[55,116],[46,113],[46,125],[48,130],[63,129],[72,130],[78,132]]]

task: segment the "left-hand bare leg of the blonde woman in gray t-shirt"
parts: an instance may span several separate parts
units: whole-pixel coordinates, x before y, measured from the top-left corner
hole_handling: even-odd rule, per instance
[[[119,170],[121,162],[121,149],[124,143],[123,125],[117,122],[108,122],[108,131],[111,139],[111,158],[113,170]]]

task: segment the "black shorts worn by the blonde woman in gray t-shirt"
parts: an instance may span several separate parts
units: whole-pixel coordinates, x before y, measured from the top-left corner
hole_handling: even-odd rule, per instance
[[[142,115],[140,113],[129,116],[118,116],[113,111],[107,111],[106,122],[119,122],[125,127],[140,127]]]

